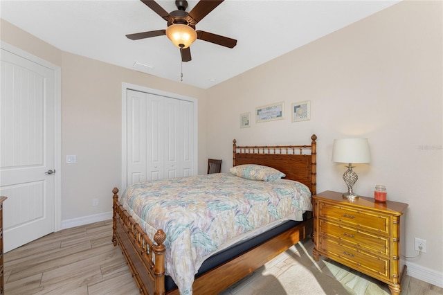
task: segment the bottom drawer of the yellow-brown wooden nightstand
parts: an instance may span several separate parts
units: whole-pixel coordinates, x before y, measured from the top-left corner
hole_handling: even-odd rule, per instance
[[[363,271],[374,278],[389,278],[389,259],[360,251],[336,240],[320,236],[320,251],[328,253],[329,258],[353,269]]]

